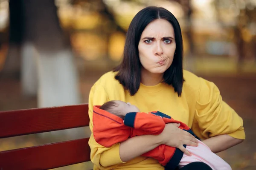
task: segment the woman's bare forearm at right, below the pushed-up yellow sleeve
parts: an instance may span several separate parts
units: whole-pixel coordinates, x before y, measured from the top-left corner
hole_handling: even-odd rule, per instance
[[[213,153],[218,153],[230,147],[233,147],[243,141],[243,139],[236,139],[227,134],[224,134],[211,137],[204,140],[203,142],[212,150]]]

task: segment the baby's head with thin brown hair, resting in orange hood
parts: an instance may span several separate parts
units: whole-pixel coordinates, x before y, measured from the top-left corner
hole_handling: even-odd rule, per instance
[[[130,103],[122,102],[120,100],[111,100],[104,103],[100,109],[112,113],[120,118],[124,119],[126,113],[129,112],[140,112],[140,110]]]

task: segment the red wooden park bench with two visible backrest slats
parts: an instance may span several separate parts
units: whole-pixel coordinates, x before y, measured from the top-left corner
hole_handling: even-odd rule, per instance
[[[0,112],[0,138],[89,125],[88,105]],[[0,170],[47,170],[90,161],[89,138],[0,152]]]

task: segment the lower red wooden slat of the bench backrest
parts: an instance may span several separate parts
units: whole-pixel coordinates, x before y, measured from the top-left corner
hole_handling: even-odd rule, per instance
[[[0,152],[0,170],[45,170],[90,161],[89,138]]]

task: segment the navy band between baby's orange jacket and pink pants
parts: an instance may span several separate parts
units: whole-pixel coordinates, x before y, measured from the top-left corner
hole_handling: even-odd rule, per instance
[[[186,148],[186,144],[183,144],[183,147]],[[180,160],[182,159],[183,154],[184,153],[176,147],[175,153],[173,154],[172,158],[165,166],[165,170],[175,170],[175,168],[180,163]]]

